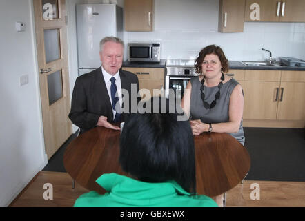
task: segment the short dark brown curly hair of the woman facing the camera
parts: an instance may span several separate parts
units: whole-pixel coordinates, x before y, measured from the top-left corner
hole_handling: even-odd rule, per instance
[[[202,74],[202,62],[204,61],[204,57],[206,55],[217,55],[219,57],[220,63],[222,64],[222,72],[227,73],[228,72],[228,59],[226,59],[226,56],[224,55],[224,52],[222,51],[222,48],[219,46],[215,46],[215,44],[211,44],[210,46],[206,46],[206,48],[203,48],[195,60],[195,69],[196,73]]]

